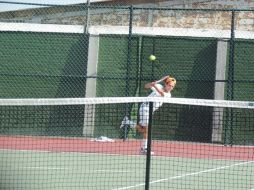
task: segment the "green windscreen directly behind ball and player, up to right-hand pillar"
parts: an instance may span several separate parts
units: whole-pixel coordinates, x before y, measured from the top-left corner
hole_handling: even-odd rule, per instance
[[[142,47],[143,78],[153,76],[154,79],[159,79],[171,75],[177,80],[172,91],[173,97],[213,99],[216,39],[144,37]],[[150,54],[156,55],[157,61],[151,63],[147,59]],[[145,82],[148,81],[144,81],[143,85]],[[147,91],[141,91],[141,94],[146,95]],[[160,134],[157,138],[202,142],[211,139],[212,110],[204,113],[200,108],[186,114],[185,107],[177,111],[173,107],[166,109],[169,116],[175,118],[175,122],[165,128],[160,119],[163,108],[155,113],[153,128],[155,134]]]

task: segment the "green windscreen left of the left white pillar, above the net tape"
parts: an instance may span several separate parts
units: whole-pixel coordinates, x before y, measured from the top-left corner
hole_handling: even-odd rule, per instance
[[[1,32],[0,97],[83,97],[83,34]]]

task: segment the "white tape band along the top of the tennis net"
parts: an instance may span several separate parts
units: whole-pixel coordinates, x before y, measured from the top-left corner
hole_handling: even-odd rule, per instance
[[[254,102],[251,101],[228,101],[228,100],[208,100],[208,99],[190,99],[190,98],[158,98],[158,97],[0,99],[0,106],[89,105],[89,104],[139,103],[139,102],[162,102],[181,105],[254,109]]]

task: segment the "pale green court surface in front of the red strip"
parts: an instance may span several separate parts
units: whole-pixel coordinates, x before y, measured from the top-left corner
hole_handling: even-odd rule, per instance
[[[2,190],[145,189],[144,155],[2,149],[0,164]],[[253,160],[152,156],[149,189],[252,190],[253,171]]]

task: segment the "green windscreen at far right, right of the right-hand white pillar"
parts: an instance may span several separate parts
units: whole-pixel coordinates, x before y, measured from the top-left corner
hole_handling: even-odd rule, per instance
[[[232,47],[231,47],[232,48]],[[228,52],[230,52],[230,47]],[[254,41],[253,40],[240,40],[234,41],[234,54],[233,56],[233,81],[232,87],[229,90],[233,91],[233,100],[237,101],[253,101],[254,100]],[[232,59],[231,59],[232,60]],[[228,60],[227,72],[229,69],[230,59]],[[228,76],[228,73],[227,73]],[[227,89],[228,90],[228,89]],[[233,144],[253,144],[246,141],[246,139],[253,139],[254,125],[253,121],[246,124],[245,120],[236,119],[240,115],[247,115],[242,110],[227,110],[225,112],[230,116],[227,125],[225,125],[224,137],[225,142]],[[245,123],[239,125],[239,123]]]

